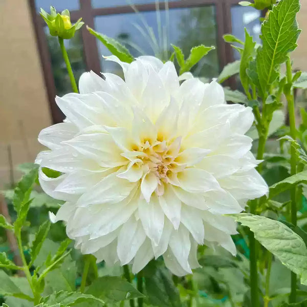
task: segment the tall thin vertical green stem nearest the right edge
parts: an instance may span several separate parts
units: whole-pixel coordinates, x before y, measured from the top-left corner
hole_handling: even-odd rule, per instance
[[[287,67],[287,83],[292,85],[292,68],[291,60],[288,56],[286,61]],[[292,86],[289,87],[286,91],[286,98],[288,101],[288,112],[289,112],[289,121],[290,121],[290,135],[292,139],[296,139],[296,127],[295,127],[295,111],[294,111],[294,93]],[[294,146],[291,146],[291,176],[296,173],[296,152]],[[297,207],[296,207],[296,187],[294,186],[291,189],[291,223],[296,226],[297,224]],[[290,303],[296,302],[296,283],[297,277],[296,274],[291,272],[291,294],[289,297]]]

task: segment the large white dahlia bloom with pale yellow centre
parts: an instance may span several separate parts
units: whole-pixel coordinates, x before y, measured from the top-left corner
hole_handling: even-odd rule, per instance
[[[215,80],[178,77],[172,62],[108,59],[125,80],[84,73],[80,94],[56,97],[67,120],[39,134],[50,150],[36,163],[61,172],[39,172],[42,189],[65,201],[53,222],[82,253],[134,273],[163,255],[173,274],[189,274],[199,244],[235,254],[236,223],[223,214],[268,191],[244,135],[252,109],[226,104]]]

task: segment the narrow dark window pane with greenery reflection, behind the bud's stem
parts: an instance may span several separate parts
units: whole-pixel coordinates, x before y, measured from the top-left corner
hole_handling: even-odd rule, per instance
[[[71,93],[72,86],[62,57],[58,39],[57,37],[50,35],[47,27],[45,27],[45,33],[48,41],[57,95],[62,96]],[[86,70],[81,32],[77,31],[72,39],[64,39],[64,45],[67,49],[76,81],[78,82],[81,74]]]

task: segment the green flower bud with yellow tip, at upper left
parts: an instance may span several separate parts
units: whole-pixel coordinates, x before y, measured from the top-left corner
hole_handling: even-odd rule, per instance
[[[57,13],[54,7],[50,7],[50,14],[40,9],[40,15],[49,28],[52,36],[58,36],[64,39],[70,39],[75,35],[76,30],[83,26],[82,18],[72,25],[70,20],[69,10],[64,10],[62,13]]]

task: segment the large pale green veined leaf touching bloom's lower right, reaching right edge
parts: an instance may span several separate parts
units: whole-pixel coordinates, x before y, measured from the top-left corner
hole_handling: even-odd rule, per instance
[[[299,235],[286,225],[265,216],[248,213],[229,216],[249,227],[261,245],[299,275],[302,284],[307,284],[307,248]]]

